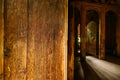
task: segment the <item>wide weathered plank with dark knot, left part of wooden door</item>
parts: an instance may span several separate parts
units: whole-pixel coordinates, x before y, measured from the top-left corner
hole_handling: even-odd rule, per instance
[[[5,0],[5,80],[26,80],[27,0]]]

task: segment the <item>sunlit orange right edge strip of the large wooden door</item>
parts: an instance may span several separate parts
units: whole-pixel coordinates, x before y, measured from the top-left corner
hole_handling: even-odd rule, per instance
[[[65,22],[64,22],[64,36],[63,36],[63,67],[62,70],[64,71],[64,79],[67,80],[67,57],[68,57],[68,0],[64,2],[64,11],[65,11]]]

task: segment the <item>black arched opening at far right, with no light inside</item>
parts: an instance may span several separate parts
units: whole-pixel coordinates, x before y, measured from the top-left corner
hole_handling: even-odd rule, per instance
[[[108,11],[106,13],[106,29],[105,29],[106,55],[116,54],[116,22],[117,22],[117,15],[112,11]]]

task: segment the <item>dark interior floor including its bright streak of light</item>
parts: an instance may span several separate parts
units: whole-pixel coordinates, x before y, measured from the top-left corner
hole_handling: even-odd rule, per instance
[[[120,58],[107,57],[99,60],[87,56],[86,61],[75,57],[74,80],[120,80]]]

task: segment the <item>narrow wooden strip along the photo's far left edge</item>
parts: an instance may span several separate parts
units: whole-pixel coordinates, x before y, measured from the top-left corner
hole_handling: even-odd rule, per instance
[[[0,0],[0,80],[3,80],[3,45],[4,45],[4,19],[3,19],[3,9],[4,9],[4,3],[3,0]]]

